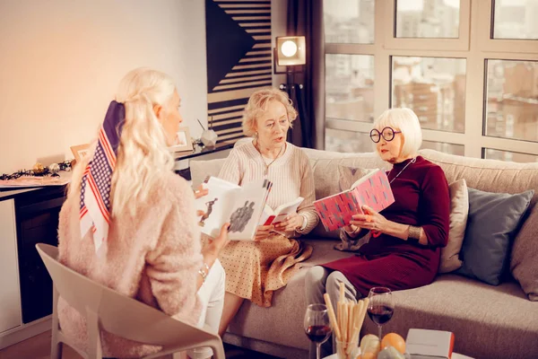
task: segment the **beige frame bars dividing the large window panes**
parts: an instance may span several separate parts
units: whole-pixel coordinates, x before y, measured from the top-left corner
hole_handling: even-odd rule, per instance
[[[485,41],[483,38],[484,33],[487,34],[487,37],[490,37],[490,33],[492,33],[491,9],[493,1],[471,2],[470,0],[461,0],[460,39],[440,41],[440,39],[394,38],[395,0],[376,0],[374,43],[325,43],[325,54],[374,56],[373,90],[376,99],[374,118],[377,118],[385,109],[388,109],[390,101],[392,101],[392,57],[464,58],[466,59],[464,133],[423,129],[423,139],[433,142],[463,144],[464,155],[467,157],[482,158],[482,147],[538,155],[538,142],[484,135],[487,102],[487,60],[538,60],[538,40],[489,39],[489,41]],[[390,26],[386,26],[387,13],[392,20]],[[465,22],[465,19],[468,19],[468,21]],[[490,19],[490,23],[488,23],[488,19]],[[486,29],[484,29],[484,26]],[[465,29],[467,35],[462,36],[462,31]],[[521,48],[522,42],[531,42],[531,44]],[[371,123],[326,118],[325,127],[369,133]]]

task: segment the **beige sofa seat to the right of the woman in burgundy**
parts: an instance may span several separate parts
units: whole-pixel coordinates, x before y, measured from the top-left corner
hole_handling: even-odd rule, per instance
[[[454,332],[457,353],[475,358],[538,357],[538,303],[528,301],[516,282],[491,286],[456,275],[431,285],[399,291],[395,315],[384,333],[407,336],[409,328]],[[362,333],[377,333],[365,320]]]

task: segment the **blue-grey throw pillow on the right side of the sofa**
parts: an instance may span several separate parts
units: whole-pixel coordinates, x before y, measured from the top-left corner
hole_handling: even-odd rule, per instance
[[[460,252],[464,264],[456,273],[499,285],[533,195],[534,190],[509,195],[469,188],[469,217]]]

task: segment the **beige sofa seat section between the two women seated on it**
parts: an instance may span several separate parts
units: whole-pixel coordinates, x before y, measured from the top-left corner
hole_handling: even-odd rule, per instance
[[[315,239],[305,242],[314,247],[312,257],[300,263],[301,269],[291,278],[287,286],[273,293],[273,305],[270,308],[261,308],[245,301],[228,328],[231,333],[308,350],[309,341],[303,328],[307,310],[305,274],[309,267],[347,258],[353,254],[334,250],[335,241]]]

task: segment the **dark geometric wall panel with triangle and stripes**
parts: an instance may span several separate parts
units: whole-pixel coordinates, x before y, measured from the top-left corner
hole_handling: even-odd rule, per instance
[[[272,84],[271,0],[205,0],[205,28],[208,119],[235,142],[248,97]]]

